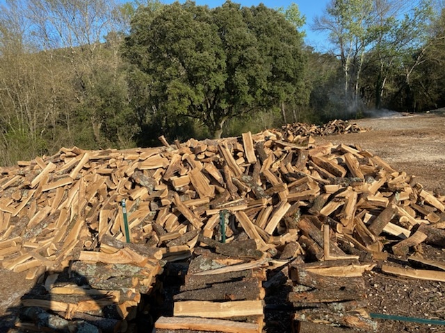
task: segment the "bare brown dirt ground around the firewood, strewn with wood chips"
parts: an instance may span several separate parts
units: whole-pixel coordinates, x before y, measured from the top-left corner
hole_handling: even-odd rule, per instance
[[[380,116],[384,117],[353,121],[371,129],[366,133],[321,137],[316,143],[359,144],[394,169],[415,175],[426,190],[445,195],[445,111]],[[418,250],[426,257],[445,261],[445,249],[421,246]],[[404,263],[403,258],[391,260]],[[34,283],[25,280],[24,274],[0,269],[0,333],[13,332],[8,329],[14,321],[15,311],[11,310]],[[391,278],[375,269],[366,274],[366,284],[370,312],[445,320],[445,283]],[[445,326],[440,325],[377,321],[379,332],[445,333]]]

